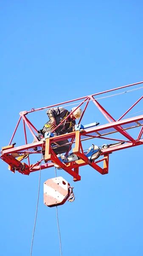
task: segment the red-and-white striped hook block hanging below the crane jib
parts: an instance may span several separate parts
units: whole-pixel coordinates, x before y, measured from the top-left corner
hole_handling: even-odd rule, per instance
[[[70,184],[63,177],[55,177],[44,182],[44,204],[54,207],[64,204],[70,196]]]

